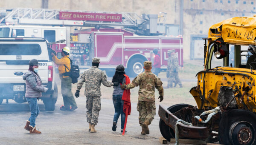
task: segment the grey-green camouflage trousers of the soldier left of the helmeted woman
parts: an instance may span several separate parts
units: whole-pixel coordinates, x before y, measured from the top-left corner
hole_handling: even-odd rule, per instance
[[[97,125],[101,109],[100,96],[86,96],[87,122]]]

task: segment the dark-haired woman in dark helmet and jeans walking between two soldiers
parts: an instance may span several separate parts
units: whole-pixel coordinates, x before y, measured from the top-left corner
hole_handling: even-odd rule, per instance
[[[112,82],[119,82],[118,86],[114,86],[114,91],[113,91],[113,104],[115,107],[115,114],[114,114],[114,119],[113,119],[112,130],[116,131],[116,123],[121,114],[121,132],[123,132],[124,124],[125,124],[125,113],[123,111],[124,101],[122,100],[122,95],[123,95],[124,90],[122,88],[120,88],[120,84],[125,83],[124,74],[125,74],[125,67],[121,64],[117,65],[116,72],[112,79]]]

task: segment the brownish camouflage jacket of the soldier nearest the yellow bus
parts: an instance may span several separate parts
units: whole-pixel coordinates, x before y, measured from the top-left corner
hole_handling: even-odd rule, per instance
[[[159,94],[163,96],[163,82],[151,71],[144,71],[126,85],[126,89],[131,89],[140,85],[139,101],[154,102],[154,88],[157,88]]]

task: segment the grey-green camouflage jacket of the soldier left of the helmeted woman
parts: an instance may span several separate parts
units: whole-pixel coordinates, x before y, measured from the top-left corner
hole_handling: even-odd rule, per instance
[[[112,86],[112,82],[107,81],[107,76],[104,74],[102,70],[97,68],[96,66],[92,66],[91,68],[84,71],[81,75],[81,80],[77,83],[77,89],[80,90],[82,85],[85,82],[85,96],[101,96],[100,92],[100,84],[107,87]]]

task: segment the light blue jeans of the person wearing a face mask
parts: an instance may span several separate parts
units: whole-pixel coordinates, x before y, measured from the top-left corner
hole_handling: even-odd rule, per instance
[[[39,107],[37,103],[37,98],[28,98],[26,97],[26,100],[29,102],[29,108],[31,115],[29,117],[30,125],[35,127],[35,119],[39,114]]]

